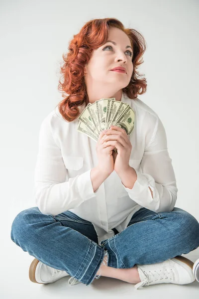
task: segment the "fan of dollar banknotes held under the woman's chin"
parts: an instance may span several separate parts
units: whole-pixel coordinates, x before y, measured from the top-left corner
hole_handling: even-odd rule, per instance
[[[117,126],[129,136],[134,128],[134,116],[133,109],[127,103],[115,101],[115,98],[102,98],[89,103],[78,117],[78,132],[98,142],[101,131]],[[117,152],[117,149],[114,148],[114,151]]]

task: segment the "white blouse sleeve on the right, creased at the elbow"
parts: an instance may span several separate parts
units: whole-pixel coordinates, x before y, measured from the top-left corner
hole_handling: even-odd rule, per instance
[[[154,212],[172,211],[177,200],[178,188],[167,148],[165,128],[159,117],[145,148],[141,169],[142,172],[135,169],[137,180],[132,189],[123,185],[129,197]]]

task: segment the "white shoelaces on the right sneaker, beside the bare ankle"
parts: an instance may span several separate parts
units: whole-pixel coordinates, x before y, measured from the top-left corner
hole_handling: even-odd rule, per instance
[[[144,285],[149,286],[154,281],[156,283],[158,283],[161,280],[166,280],[166,279],[174,281],[174,277],[175,277],[172,269],[170,272],[167,269],[165,269],[164,271],[161,271],[161,273],[158,273],[156,270],[149,271],[148,273],[143,271],[143,273],[145,275],[144,280],[139,282],[138,284],[136,284],[134,286],[135,289],[138,289],[139,287],[142,287]]]

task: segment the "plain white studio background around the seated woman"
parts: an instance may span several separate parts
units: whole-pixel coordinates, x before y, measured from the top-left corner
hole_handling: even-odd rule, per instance
[[[179,189],[176,207],[199,221],[198,15],[197,0],[0,0],[1,258],[5,261],[0,275],[1,283],[2,279],[6,282],[4,291],[0,290],[3,299],[16,298],[17,294],[20,298],[35,298],[41,290],[49,290],[49,294],[43,291],[48,297],[53,294],[53,289],[43,289],[43,285],[28,280],[33,257],[11,241],[10,229],[21,210],[35,206],[34,167],[40,125],[62,100],[57,89],[62,55],[68,51],[73,35],[91,19],[116,17],[125,27],[135,28],[144,36],[147,50],[139,70],[146,76],[148,86],[138,98],[159,115],[166,129]],[[114,290],[123,287],[134,292],[122,281],[100,278],[101,282],[103,279],[111,282]],[[95,280],[94,285],[100,280]],[[49,288],[56,290],[58,283]],[[19,284],[25,284],[29,292],[20,293]],[[155,287],[167,287],[168,291],[165,285]],[[64,281],[62,286],[63,298],[67,296],[66,288],[74,297],[77,288],[84,288],[86,296],[91,292],[82,284],[70,288]],[[178,294],[182,292],[181,286],[172,287],[177,288]],[[101,289],[104,290],[103,284]],[[186,290],[184,298],[188,298]],[[106,295],[98,291],[99,296]],[[153,288],[157,296],[158,291]]]

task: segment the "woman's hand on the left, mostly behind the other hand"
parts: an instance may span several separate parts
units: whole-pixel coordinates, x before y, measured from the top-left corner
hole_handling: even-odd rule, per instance
[[[114,160],[112,156],[112,150],[114,146],[107,146],[103,141],[104,131],[100,132],[99,139],[96,146],[98,155],[98,168],[104,174],[110,174],[114,170]],[[106,136],[106,135],[105,135]]]

